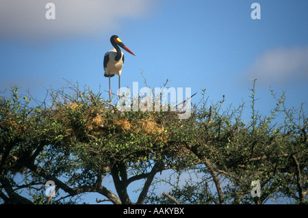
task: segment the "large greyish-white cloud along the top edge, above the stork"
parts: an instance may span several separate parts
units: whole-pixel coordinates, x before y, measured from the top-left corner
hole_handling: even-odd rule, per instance
[[[47,3],[55,4],[55,20],[47,20]],[[0,39],[61,38],[105,33],[123,18],[138,18],[153,0],[0,0]]]

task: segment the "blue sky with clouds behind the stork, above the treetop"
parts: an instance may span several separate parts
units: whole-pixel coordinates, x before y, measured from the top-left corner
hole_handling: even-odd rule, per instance
[[[45,18],[48,2],[55,20]],[[251,18],[254,2],[260,20]],[[166,79],[191,87],[193,103],[205,87],[209,100],[238,105],[257,78],[261,113],[275,105],[270,86],[299,107],[308,100],[307,8],[306,0],[0,0],[0,90],[14,83],[43,100],[62,78],[107,90],[103,55],[116,34],[136,54],[125,52],[123,86],[143,87],[142,71],[151,87]]]

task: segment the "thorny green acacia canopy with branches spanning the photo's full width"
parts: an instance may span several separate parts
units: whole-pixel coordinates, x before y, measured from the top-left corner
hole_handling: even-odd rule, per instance
[[[284,95],[272,93],[277,107],[269,117],[255,110],[253,88],[248,122],[242,119],[244,104],[222,109],[223,99],[208,107],[205,98],[194,105],[190,118],[179,120],[177,111],[121,112],[101,93],[73,83],[69,88],[51,90],[50,105],[36,100],[31,106],[16,87],[10,97],[1,96],[3,203],[69,204],[90,192],[114,204],[261,204],[270,196],[307,202],[307,118],[303,107],[286,109]],[[284,124],[274,124],[281,112]],[[201,180],[174,185],[164,195],[153,193],[155,176],[167,169],[197,174]],[[17,173],[22,181],[16,180]],[[107,175],[116,193],[105,187]],[[56,185],[53,197],[44,195],[48,180]],[[138,180],[144,183],[138,200],[131,202],[127,187]],[[261,184],[261,197],[250,195],[253,180]]]

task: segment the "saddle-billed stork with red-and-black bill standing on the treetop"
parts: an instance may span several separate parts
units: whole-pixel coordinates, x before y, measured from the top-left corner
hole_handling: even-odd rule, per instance
[[[116,35],[110,38],[110,42],[112,46],[114,46],[114,49],[107,51],[107,53],[104,55],[104,77],[109,77],[109,99],[111,102],[110,77],[114,77],[115,74],[118,75],[118,92],[120,98],[120,76],[124,64],[124,54],[118,46],[131,53],[132,55],[135,54],[130,51]]]

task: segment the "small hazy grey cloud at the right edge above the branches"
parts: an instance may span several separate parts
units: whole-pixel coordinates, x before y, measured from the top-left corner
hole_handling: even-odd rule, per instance
[[[279,48],[257,58],[248,70],[262,85],[308,81],[308,47]]]

